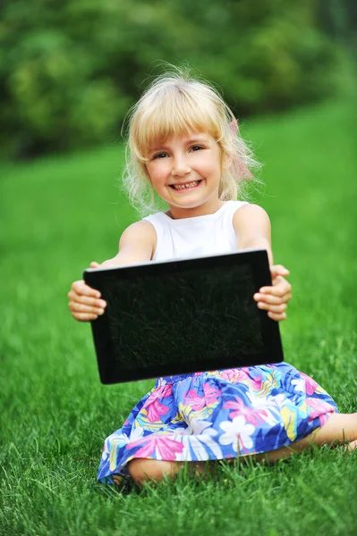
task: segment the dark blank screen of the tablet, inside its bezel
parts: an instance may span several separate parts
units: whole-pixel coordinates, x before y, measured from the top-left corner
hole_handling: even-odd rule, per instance
[[[248,266],[230,266],[224,274],[200,269],[199,277],[191,271],[161,274],[157,289],[152,280],[115,281],[106,297],[121,368],[169,368],[192,359],[208,364],[218,353],[262,350]],[[252,331],[258,337],[252,339]]]

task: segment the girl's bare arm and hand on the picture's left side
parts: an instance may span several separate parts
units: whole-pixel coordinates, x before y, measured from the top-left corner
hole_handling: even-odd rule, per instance
[[[120,266],[150,261],[157,244],[157,233],[149,222],[136,222],[123,231],[119,242],[119,253],[103,264],[90,263],[91,268]],[[68,293],[69,308],[75,320],[86,322],[96,320],[104,313],[105,300],[100,298],[100,292],[91,289],[84,281],[74,281]]]

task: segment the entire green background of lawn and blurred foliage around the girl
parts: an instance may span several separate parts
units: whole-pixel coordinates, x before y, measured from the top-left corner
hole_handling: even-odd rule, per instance
[[[67,292],[140,217],[118,190],[125,113],[158,61],[188,63],[221,88],[264,164],[267,188],[251,194],[291,270],[285,359],[356,411],[356,6],[1,4],[2,535],[355,536],[356,457],[338,448],[147,496],[97,486],[103,441],[153,381],[100,384]]]

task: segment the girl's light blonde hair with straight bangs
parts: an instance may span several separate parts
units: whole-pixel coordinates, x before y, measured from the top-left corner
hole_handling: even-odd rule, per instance
[[[259,169],[251,150],[239,135],[234,113],[222,96],[206,81],[191,77],[188,70],[174,68],[154,80],[127,116],[129,126],[123,186],[132,206],[141,214],[157,210],[154,188],[146,172],[151,147],[173,135],[208,133],[217,140],[223,166],[218,196],[222,201],[242,197],[242,180]]]

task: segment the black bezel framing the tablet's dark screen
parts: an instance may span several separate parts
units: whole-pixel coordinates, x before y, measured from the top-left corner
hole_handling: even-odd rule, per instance
[[[157,278],[156,285],[159,287],[159,276],[162,273],[176,273],[200,270],[200,268],[232,266],[232,264],[249,264],[251,268],[252,279],[254,281],[254,292],[257,292],[263,286],[270,286],[271,275],[268,266],[268,254],[265,249],[245,249],[225,255],[209,255],[198,258],[174,259],[165,262],[149,262],[140,264],[126,264],[123,266],[115,266],[109,268],[87,269],[83,272],[84,281],[92,288],[98,289],[103,299],[106,299],[106,285],[108,275],[110,279],[120,278],[122,280],[130,280],[132,278],[140,278],[140,276],[148,275]],[[159,289],[158,289],[159,291]],[[253,299],[253,298],[252,298]],[[250,356],[245,363],[238,356],[218,356],[217,367],[212,369],[212,361],[209,362],[208,370],[240,368],[242,366],[251,366],[255,364],[280,363],[284,360],[283,348],[280,338],[278,322],[270,319],[264,310],[257,307],[257,314],[260,321],[260,333],[264,347],[264,358],[259,359],[255,356]],[[125,381],[147,380],[163,376],[173,376],[176,374],[196,373],[202,371],[203,361],[200,361],[200,370],[197,365],[192,363],[190,370],[187,370],[181,364],[170,364],[169,369],[165,366],[160,367],[141,367],[136,369],[125,369],[120,373],[120,377],[115,375],[115,356],[114,348],[111,339],[110,327],[108,322],[108,314],[98,316],[98,319],[90,322],[94,339],[94,346],[97,354],[98,371],[100,381],[104,384],[122,383]],[[274,361],[271,361],[271,356],[274,356]]]

